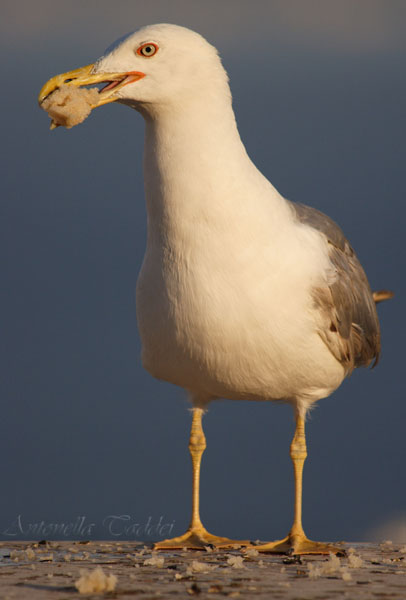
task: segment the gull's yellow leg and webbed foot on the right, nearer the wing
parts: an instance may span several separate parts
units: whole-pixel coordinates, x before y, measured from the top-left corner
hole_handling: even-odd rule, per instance
[[[309,540],[302,526],[302,482],[303,466],[307,456],[306,435],[304,419],[300,416],[296,418],[296,431],[290,446],[290,457],[293,461],[293,471],[295,476],[295,512],[292,528],[283,540],[270,542],[256,546],[259,552],[271,552],[281,554],[330,554],[344,553],[344,550],[338,546],[325,544],[323,542],[313,542]]]

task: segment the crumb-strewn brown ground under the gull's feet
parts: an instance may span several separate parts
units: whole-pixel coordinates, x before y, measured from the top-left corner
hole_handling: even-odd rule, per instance
[[[152,552],[137,542],[0,542],[0,598],[406,598],[406,545],[345,548],[345,558],[298,559],[256,550]],[[75,582],[97,566],[117,577],[116,589],[80,594]]]

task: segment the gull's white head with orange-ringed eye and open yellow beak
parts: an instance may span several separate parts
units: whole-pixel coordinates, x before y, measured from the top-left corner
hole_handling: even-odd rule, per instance
[[[52,77],[39,103],[61,85],[104,84],[98,103],[121,102],[153,112],[189,99],[224,94],[228,79],[217,50],[201,35],[170,24],[150,25],[120,38],[94,63]],[[227,94],[230,97],[228,91]]]

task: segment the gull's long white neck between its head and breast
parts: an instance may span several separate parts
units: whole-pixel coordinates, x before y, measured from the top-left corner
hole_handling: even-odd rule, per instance
[[[245,213],[255,213],[255,202],[285,213],[283,199],[246,153],[228,85],[179,104],[139,110],[146,120],[150,243],[159,239],[161,245],[163,240],[172,245],[183,226],[224,230],[232,226],[232,215],[241,223]],[[242,180],[249,182],[249,193],[241,189]],[[253,188],[258,190],[255,197]]]

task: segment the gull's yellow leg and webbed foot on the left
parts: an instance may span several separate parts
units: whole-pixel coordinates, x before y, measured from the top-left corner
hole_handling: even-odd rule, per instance
[[[246,540],[230,540],[228,538],[212,535],[204,528],[200,520],[200,464],[202,461],[202,454],[206,449],[206,438],[202,427],[202,416],[203,410],[201,408],[193,409],[193,420],[189,441],[189,450],[193,466],[192,519],[189,528],[186,533],[179,537],[156,543],[154,545],[155,550],[177,548],[203,550],[205,546],[210,545],[217,548],[232,548],[234,546],[250,545],[250,542]]]

